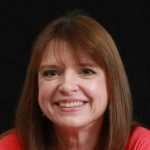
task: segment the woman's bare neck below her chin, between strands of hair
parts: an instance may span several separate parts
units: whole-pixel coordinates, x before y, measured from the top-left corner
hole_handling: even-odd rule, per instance
[[[96,150],[100,146],[101,126],[57,128],[58,150]]]

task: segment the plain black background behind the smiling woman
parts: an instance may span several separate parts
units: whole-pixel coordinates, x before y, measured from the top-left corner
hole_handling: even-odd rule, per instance
[[[150,128],[150,5],[144,0],[0,2],[0,133],[13,127],[32,43],[45,25],[82,8],[114,38],[133,95],[134,118]]]

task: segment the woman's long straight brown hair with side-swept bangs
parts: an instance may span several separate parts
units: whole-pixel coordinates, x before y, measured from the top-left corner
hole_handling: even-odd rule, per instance
[[[72,13],[50,22],[34,43],[24,89],[16,115],[16,130],[25,150],[56,149],[53,123],[43,118],[38,105],[38,69],[46,46],[67,42],[71,52],[85,53],[103,67],[108,81],[109,106],[101,133],[102,150],[124,150],[132,124],[132,103],[127,76],[109,33],[94,19]]]

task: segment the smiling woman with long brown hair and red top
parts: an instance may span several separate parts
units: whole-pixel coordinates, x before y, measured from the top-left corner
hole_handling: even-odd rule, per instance
[[[48,24],[34,43],[16,128],[0,149],[148,150],[149,141],[150,131],[133,125],[128,80],[109,33],[84,14]]]

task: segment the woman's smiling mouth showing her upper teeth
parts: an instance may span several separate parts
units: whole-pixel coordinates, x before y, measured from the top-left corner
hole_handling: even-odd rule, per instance
[[[86,103],[87,101],[71,101],[71,102],[57,102],[55,104],[61,108],[74,108],[83,106]]]

